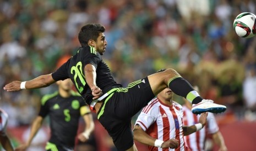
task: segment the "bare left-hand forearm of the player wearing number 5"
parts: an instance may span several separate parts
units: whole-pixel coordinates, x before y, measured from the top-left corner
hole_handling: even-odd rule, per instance
[[[43,121],[43,118],[41,116],[36,117],[36,119],[33,121],[32,125],[31,125],[31,130],[30,130],[30,135],[29,135],[28,141],[25,144],[21,144],[15,150],[26,150],[26,148],[28,148],[30,146],[33,138],[35,137],[35,135],[37,133],[37,131],[42,126],[42,121]]]

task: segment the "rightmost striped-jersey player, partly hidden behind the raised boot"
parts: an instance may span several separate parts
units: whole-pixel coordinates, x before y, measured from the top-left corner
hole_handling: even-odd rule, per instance
[[[188,101],[184,102],[183,124],[193,125],[194,123],[198,123],[199,115],[195,115],[191,112],[192,104]],[[208,113],[207,123],[206,126],[203,127],[203,129],[184,137],[187,147],[189,147],[189,149],[192,151],[205,150],[206,135],[208,135],[208,133],[213,135],[213,141],[216,142],[216,144],[220,147],[220,151],[227,150],[224,138],[219,131],[219,126],[216,123],[213,113]]]

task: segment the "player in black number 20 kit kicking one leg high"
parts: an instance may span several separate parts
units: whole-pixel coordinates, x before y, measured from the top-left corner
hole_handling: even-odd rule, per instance
[[[123,88],[115,82],[110,69],[101,58],[107,46],[104,32],[105,27],[101,24],[86,24],[81,27],[78,35],[81,48],[56,72],[26,82],[11,82],[4,86],[4,90],[42,88],[58,80],[72,79],[86,103],[97,113],[97,118],[118,150],[137,150],[130,120],[167,87],[192,102],[192,112],[195,114],[220,113],[226,110],[225,106],[204,100],[174,69],[151,74]],[[156,141],[155,146],[161,147],[163,143],[167,142]]]

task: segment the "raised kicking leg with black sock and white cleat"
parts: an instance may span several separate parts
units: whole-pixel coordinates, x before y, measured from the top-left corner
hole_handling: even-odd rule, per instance
[[[166,69],[148,76],[149,83],[154,95],[169,87],[175,94],[185,97],[193,104],[192,112],[200,114],[204,112],[221,113],[226,107],[213,103],[211,100],[204,100],[195,91],[189,82],[182,78],[174,69]]]

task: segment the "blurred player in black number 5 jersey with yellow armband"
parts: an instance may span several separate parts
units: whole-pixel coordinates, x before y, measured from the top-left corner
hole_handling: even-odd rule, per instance
[[[79,133],[78,139],[81,142],[89,139],[94,130],[90,108],[80,94],[72,90],[73,83],[70,79],[60,80],[57,84],[58,91],[42,97],[40,111],[31,125],[29,139],[15,150],[26,150],[30,146],[47,115],[50,119],[51,137],[46,150],[74,150],[80,117],[84,119],[85,130]]]

